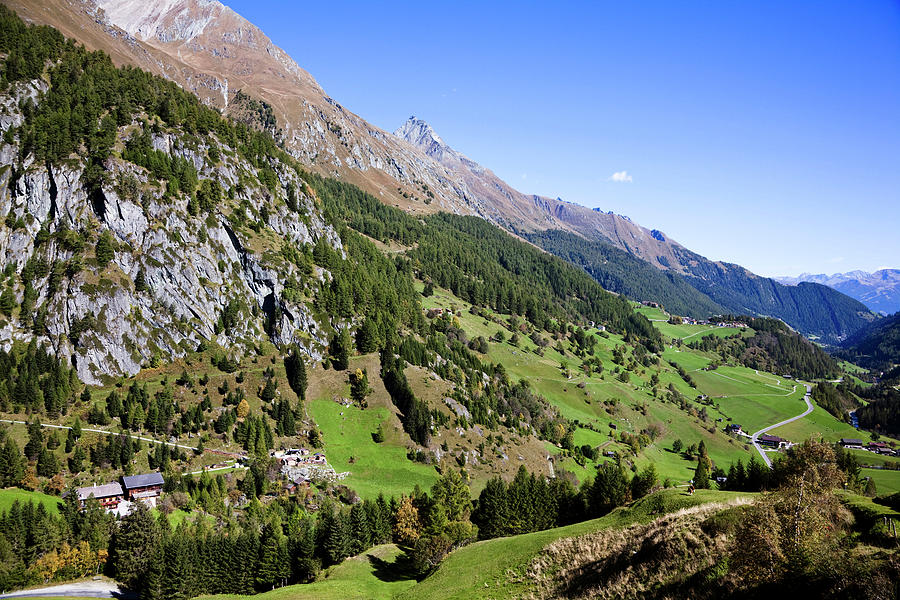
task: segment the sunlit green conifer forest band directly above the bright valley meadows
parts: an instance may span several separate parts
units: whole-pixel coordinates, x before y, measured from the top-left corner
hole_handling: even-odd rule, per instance
[[[591,320],[659,343],[659,332],[625,299],[483,219],[440,213],[420,220],[355,186],[310,181],[333,219],[382,242],[410,246],[405,256],[417,275],[464,300],[521,315],[551,331],[569,320]]]

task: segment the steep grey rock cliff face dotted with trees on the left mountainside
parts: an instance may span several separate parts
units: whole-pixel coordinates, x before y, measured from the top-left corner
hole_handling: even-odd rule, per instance
[[[37,83],[19,86],[15,93],[32,95],[37,88]],[[6,127],[20,122],[17,102],[3,101],[8,110],[15,107],[6,115]],[[266,189],[247,184],[254,167],[227,146],[220,149],[225,158],[213,163],[207,147],[178,134],[156,135],[153,145],[190,161],[201,179],[238,190],[234,200],[223,199],[210,214],[192,216],[186,199],[165,198],[145,169],[115,158],[106,164],[108,183],[93,196],[78,161],[48,166],[26,157],[15,170],[0,170],[0,262],[14,265],[19,278],[29,277],[26,266],[34,274],[16,286],[18,303],[26,285],[36,292],[34,314],[14,315],[0,326],[0,345],[37,336],[68,358],[87,383],[134,374],[156,359],[196,349],[201,340],[243,352],[271,339],[298,343],[318,357],[325,344],[319,324],[305,303],[284,294],[286,281],[312,289],[317,280],[304,281],[309,278],[290,262],[254,250],[262,247],[254,243],[255,230],[234,225],[237,212],[257,223],[268,213],[257,227],[272,238],[299,249],[321,238],[340,250],[340,239],[316,204],[301,192],[301,217],[284,202],[271,202]],[[13,144],[0,146],[0,155],[5,165],[17,163]],[[274,160],[271,166],[282,185],[304,189],[293,169]],[[242,185],[239,174],[245,175]],[[116,251],[101,266],[93,247],[104,231],[112,234]],[[223,327],[229,303],[240,317]]]

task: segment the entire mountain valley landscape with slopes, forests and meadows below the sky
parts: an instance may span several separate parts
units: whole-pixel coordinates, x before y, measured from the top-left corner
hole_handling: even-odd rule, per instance
[[[900,595],[897,315],[382,131],[219,2],[4,0],[0,272],[0,590]]]

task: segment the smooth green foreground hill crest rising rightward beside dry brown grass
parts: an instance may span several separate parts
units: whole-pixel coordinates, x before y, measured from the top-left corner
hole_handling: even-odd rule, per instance
[[[592,521],[508,538],[478,542],[453,552],[438,570],[399,596],[401,599],[516,598],[525,592],[523,583],[510,581],[510,573],[522,573],[529,561],[547,544],[606,527],[647,523],[658,515],[682,507],[728,500],[747,495],[698,490],[688,496],[680,490],[664,490],[634,505],[619,508]]]

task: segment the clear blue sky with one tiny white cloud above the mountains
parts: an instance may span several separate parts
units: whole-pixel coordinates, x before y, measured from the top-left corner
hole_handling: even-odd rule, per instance
[[[900,2],[226,4],[523,192],[763,275],[900,267]]]

